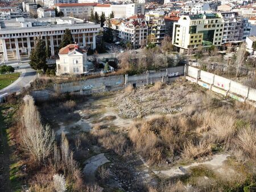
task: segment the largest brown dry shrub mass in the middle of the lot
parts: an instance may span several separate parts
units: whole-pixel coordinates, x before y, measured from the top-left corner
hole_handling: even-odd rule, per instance
[[[174,161],[187,139],[196,139],[190,133],[191,122],[185,116],[161,116],[134,124],[129,130],[129,138],[135,149],[148,161],[157,164],[163,160]]]

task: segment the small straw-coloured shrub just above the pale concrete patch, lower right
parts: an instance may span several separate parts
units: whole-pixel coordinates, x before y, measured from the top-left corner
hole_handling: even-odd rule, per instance
[[[210,151],[210,145],[205,141],[201,141],[199,142],[199,144],[193,144],[192,141],[188,141],[188,143],[184,146],[182,157],[188,159],[195,159],[201,156],[208,155]]]

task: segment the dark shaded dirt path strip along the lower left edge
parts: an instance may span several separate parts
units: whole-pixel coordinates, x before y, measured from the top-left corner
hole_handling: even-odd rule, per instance
[[[0,107],[0,191],[9,192],[11,191],[9,180],[9,145],[3,119],[2,108]]]

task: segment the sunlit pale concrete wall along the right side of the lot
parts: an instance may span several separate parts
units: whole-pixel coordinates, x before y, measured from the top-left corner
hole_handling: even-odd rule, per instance
[[[188,81],[220,93],[224,96],[229,96],[240,102],[247,102],[250,105],[256,106],[256,89],[242,85],[238,82],[229,80],[213,73],[208,73],[203,70],[185,66],[185,78]]]

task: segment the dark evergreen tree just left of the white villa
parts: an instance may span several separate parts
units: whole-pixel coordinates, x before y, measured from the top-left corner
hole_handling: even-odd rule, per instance
[[[30,66],[32,69],[46,69],[46,46],[44,41],[39,39],[36,42],[36,47],[32,49],[30,54]]]

